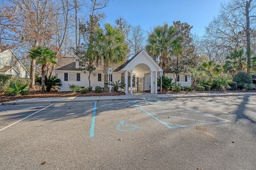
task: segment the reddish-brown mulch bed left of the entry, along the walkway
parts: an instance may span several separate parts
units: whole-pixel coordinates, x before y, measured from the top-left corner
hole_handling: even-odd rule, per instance
[[[30,98],[43,98],[43,97],[83,97],[83,96],[120,96],[120,95],[125,95],[124,92],[89,92],[87,94],[81,94],[79,92],[77,93],[72,93],[72,92],[45,92],[45,94],[42,94],[42,92],[39,91],[30,91],[29,95],[20,95],[20,96],[6,96],[6,95],[0,95],[0,103],[3,102],[8,102],[8,101],[13,101],[17,99],[30,99]]]

